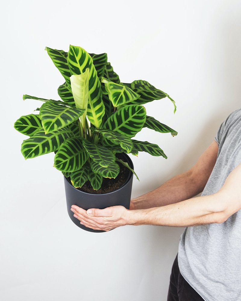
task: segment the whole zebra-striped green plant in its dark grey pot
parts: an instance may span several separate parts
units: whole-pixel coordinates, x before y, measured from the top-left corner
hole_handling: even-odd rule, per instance
[[[127,154],[145,151],[167,159],[162,149],[147,141],[132,139],[143,127],[161,133],[177,132],[146,116],[143,104],[168,97],[144,80],[120,82],[107,54],[93,54],[70,45],[69,51],[45,48],[65,82],[58,88],[60,100],[23,95],[44,102],[21,116],[14,128],[29,136],[21,146],[26,159],[55,153],[54,167],[64,175],[67,210],[75,204],[87,210],[122,205],[130,208],[133,163]],[[136,175],[136,178],[137,175]]]

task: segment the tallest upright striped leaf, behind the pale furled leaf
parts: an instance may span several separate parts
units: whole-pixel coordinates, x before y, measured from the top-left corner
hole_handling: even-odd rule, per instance
[[[89,68],[89,101],[87,116],[89,121],[99,127],[105,114],[102,101],[101,84],[95,70],[91,56],[83,48],[70,45],[68,52],[68,66],[71,74],[82,74]]]

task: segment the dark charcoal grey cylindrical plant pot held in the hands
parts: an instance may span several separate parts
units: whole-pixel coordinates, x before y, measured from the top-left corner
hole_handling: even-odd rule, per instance
[[[122,153],[123,161],[128,162],[129,166],[133,169],[133,163],[127,154]],[[87,228],[80,224],[80,221],[74,217],[74,213],[70,210],[72,205],[77,205],[85,210],[90,208],[104,209],[110,206],[121,205],[127,209],[130,209],[130,198],[132,189],[133,173],[129,170],[126,182],[118,189],[104,194],[90,194],[83,192],[75,188],[71,182],[70,178],[64,176],[64,186],[67,201],[67,210],[70,219],[75,225],[83,230],[90,232],[106,232],[102,230],[94,230]],[[113,229],[112,229],[113,230]]]

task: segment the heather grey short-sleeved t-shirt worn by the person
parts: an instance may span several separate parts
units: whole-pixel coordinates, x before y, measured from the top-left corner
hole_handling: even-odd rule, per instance
[[[219,191],[241,163],[241,108],[228,115],[214,139],[218,156],[201,196]],[[222,224],[186,227],[178,265],[205,301],[241,301],[241,210]]]

